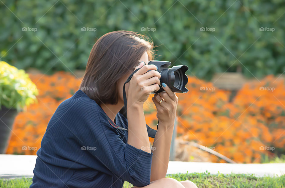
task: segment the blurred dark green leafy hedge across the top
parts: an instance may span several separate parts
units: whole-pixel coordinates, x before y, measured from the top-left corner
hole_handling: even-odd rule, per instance
[[[285,71],[284,0],[2,0],[0,11],[0,57],[17,68],[84,69],[97,38],[132,30],[152,37],[158,60],[200,78]]]

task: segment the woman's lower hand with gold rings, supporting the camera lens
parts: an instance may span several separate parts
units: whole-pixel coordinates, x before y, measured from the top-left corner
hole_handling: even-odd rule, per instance
[[[156,106],[156,117],[159,120],[159,124],[162,123],[161,125],[163,126],[172,126],[175,121],[178,97],[166,84],[162,83],[162,87],[165,91],[158,94],[156,93],[152,98]],[[161,100],[162,102],[159,103]]]

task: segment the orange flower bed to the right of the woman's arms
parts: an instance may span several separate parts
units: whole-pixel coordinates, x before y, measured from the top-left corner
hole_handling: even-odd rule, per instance
[[[264,155],[274,157],[271,151],[284,153],[284,79],[267,76],[247,83],[231,103],[227,92],[200,90],[214,88],[213,84],[189,80],[187,96],[179,94],[178,134],[184,140],[215,148],[235,162],[261,162]]]

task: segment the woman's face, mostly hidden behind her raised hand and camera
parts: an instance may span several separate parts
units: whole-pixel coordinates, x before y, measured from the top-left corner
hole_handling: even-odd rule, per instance
[[[140,60],[137,62],[137,65],[140,62],[145,62],[145,64],[148,64],[148,53],[145,51],[145,53],[143,53],[143,55],[140,57]],[[129,70],[128,73],[126,73],[125,76],[123,76],[119,82],[118,82],[118,87],[119,87],[119,103],[121,102],[122,104],[124,104],[124,98],[123,98],[123,87],[124,87],[124,83],[126,82],[126,80],[129,78],[130,74],[132,74],[132,72],[134,72],[135,69],[133,70]],[[128,93],[129,90],[129,83],[126,83],[125,85],[125,89],[126,89],[126,95]]]

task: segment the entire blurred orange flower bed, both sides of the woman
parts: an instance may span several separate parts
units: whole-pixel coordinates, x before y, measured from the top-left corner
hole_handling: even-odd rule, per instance
[[[15,119],[7,154],[35,155],[46,126],[57,106],[79,87],[70,73],[52,76],[30,74],[39,90],[38,104],[20,112]],[[273,76],[249,82],[229,102],[230,92],[212,83],[189,77],[189,92],[177,94],[178,137],[194,141],[239,163],[262,162],[264,156],[285,153],[285,85]],[[144,104],[148,125],[156,127],[157,118],[151,95]],[[153,139],[150,139],[152,142]],[[213,162],[225,162],[211,155]]]

